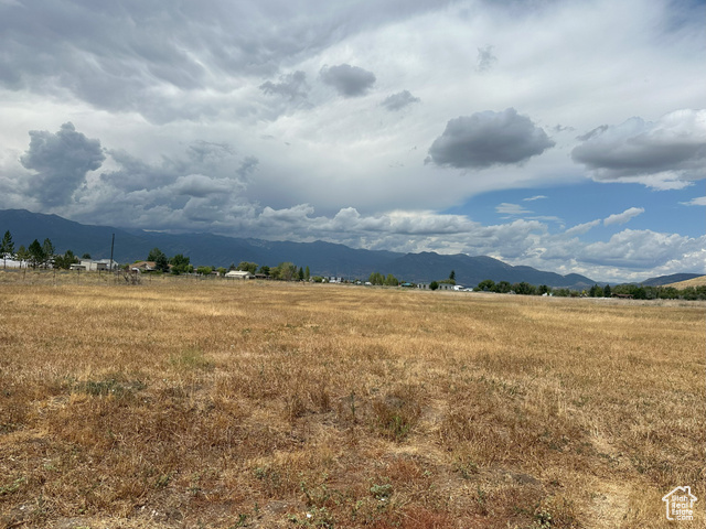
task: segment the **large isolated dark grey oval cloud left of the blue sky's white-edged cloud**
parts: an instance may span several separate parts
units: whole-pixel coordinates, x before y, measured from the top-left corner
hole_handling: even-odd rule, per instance
[[[484,169],[522,163],[554,147],[547,134],[514,108],[451,119],[429,149],[437,165]]]

